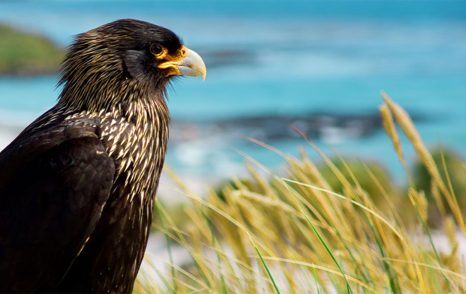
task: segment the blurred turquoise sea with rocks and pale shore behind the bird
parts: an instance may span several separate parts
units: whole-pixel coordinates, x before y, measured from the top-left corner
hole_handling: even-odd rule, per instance
[[[56,103],[55,60],[72,35],[121,18],[172,29],[206,63],[204,83],[180,79],[169,93],[166,164],[182,177],[212,183],[244,174],[238,151],[281,172],[279,155],[242,135],[294,156],[303,145],[317,160],[293,124],[327,156],[335,148],[378,161],[402,182],[378,115],[380,90],[407,110],[428,145],[466,155],[466,2],[440,1],[0,2],[3,42],[13,28],[44,36],[58,56],[52,68],[18,69],[7,66],[10,55],[41,49],[1,51],[0,149]]]

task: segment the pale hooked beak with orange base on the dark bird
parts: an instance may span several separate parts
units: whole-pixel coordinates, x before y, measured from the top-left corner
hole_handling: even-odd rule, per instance
[[[183,46],[181,49],[182,58],[175,61],[167,61],[159,65],[160,68],[173,67],[174,72],[171,75],[181,75],[190,77],[202,76],[202,80],[206,79],[206,65],[201,56],[195,51]]]

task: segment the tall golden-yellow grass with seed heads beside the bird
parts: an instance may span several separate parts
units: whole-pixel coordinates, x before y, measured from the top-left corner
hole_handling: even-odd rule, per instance
[[[169,270],[156,270],[159,279],[141,271],[134,292],[466,292],[455,237],[466,230],[449,180],[456,174],[442,153],[442,160],[434,160],[408,114],[382,95],[383,126],[409,181],[404,195],[394,193],[390,181],[379,181],[370,165],[361,162],[354,172],[353,164],[330,160],[309,140],[326,163],[325,175],[304,152],[296,159],[261,143],[283,156],[287,175],[274,174],[245,155],[248,180],[233,179],[211,190],[207,199],[174,188],[191,201],[183,210],[188,221],[177,226],[159,206],[163,220],[154,227],[189,252],[190,266],[171,259]],[[408,168],[398,130],[429,175],[423,190]],[[376,189],[368,188],[368,179]],[[436,229],[428,222],[432,209],[440,215]],[[448,239],[447,250],[436,247],[438,234]]]

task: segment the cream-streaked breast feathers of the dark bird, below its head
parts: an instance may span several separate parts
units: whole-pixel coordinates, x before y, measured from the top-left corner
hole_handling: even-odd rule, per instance
[[[112,111],[75,115],[97,119],[97,135],[114,160],[110,206],[122,197],[129,202],[139,197],[141,205],[149,201],[145,198],[155,197],[168,142],[169,117],[164,106],[133,102],[126,105],[125,112],[115,107]],[[129,191],[117,191],[119,183]]]

